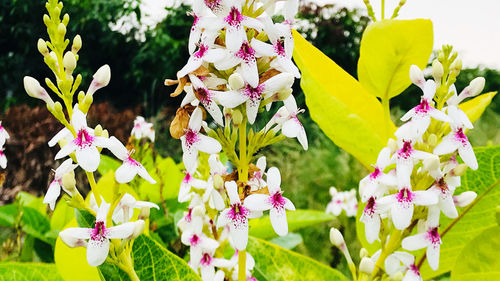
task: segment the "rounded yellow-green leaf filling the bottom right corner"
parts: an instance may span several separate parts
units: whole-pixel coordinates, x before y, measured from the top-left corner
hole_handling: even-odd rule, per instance
[[[500,226],[486,229],[462,250],[451,281],[500,280]]]

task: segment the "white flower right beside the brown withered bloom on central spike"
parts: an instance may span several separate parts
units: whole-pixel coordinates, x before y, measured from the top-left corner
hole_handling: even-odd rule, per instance
[[[202,112],[197,107],[191,114],[188,129],[181,137],[182,141],[182,159],[188,173],[193,174],[198,167],[198,151],[213,154],[221,151],[221,144],[205,135],[200,134],[202,121]]]

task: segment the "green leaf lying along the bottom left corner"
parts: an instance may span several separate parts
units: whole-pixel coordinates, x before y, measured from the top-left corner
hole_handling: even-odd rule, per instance
[[[44,263],[0,263],[0,281],[63,281],[55,264]]]

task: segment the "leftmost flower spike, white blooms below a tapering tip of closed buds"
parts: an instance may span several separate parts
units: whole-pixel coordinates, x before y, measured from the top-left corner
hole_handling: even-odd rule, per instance
[[[131,266],[132,245],[128,242],[143,232],[145,222],[143,217],[132,220],[133,212],[134,209],[140,209],[148,213],[149,208],[158,208],[158,206],[138,201],[128,193],[122,195],[118,189],[114,190],[113,201],[107,203],[104,197],[100,196],[94,172],[101,162],[101,151],[108,149],[122,162],[122,165],[115,171],[117,182],[130,182],[137,174],[151,183],[155,183],[155,180],[141,163],[132,158],[133,151],[129,151],[117,138],[109,137],[108,131],[102,126],[97,125],[91,128],[87,124],[86,115],[92,105],[93,95],[99,89],[107,86],[111,79],[111,70],[108,65],[104,65],[96,71],[87,91],[80,91],[77,95],[78,102],[74,103],[74,95],[82,81],[81,75],[73,76],[82,41],[80,36],[75,36],[71,49],[66,50],[69,40],[64,37],[69,16],[65,14],[61,19],[62,7],[63,4],[57,0],[47,2],[46,8],[49,15],[44,15],[43,19],[50,41],[43,39],[38,41],[38,50],[56,78],[56,83],[51,82],[49,78],[45,78],[45,82],[62,103],[52,100],[49,93],[35,78],[24,77],[24,88],[28,95],[43,100],[49,112],[64,125],[64,128],[48,143],[50,147],[59,145],[60,150],[55,159],[64,159],[64,161],[55,170],[54,179],[49,185],[43,202],[54,210],[56,200],[63,189],[67,194],[65,200],[68,205],[78,210],[77,213],[87,213],[87,215],[94,216],[95,222],[90,225],[91,228],[77,227],[63,230],[59,233],[62,241],[70,247],[86,247],[89,265],[99,266],[107,258],[110,258],[115,265],[129,274],[131,280],[138,280],[133,266]],[[137,123],[134,127],[136,136],[141,135],[154,139],[154,131],[151,126],[146,124],[143,119],[142,122]],[[0,130],[0,139],[8,137],[3,132]],[[76,187],[74,170],[77,167],[85,171],[92,190],[88,201],[83,199]],[[110,245],[113,246],[110,247]],[[110,252],[111,254],[108,256]]]

